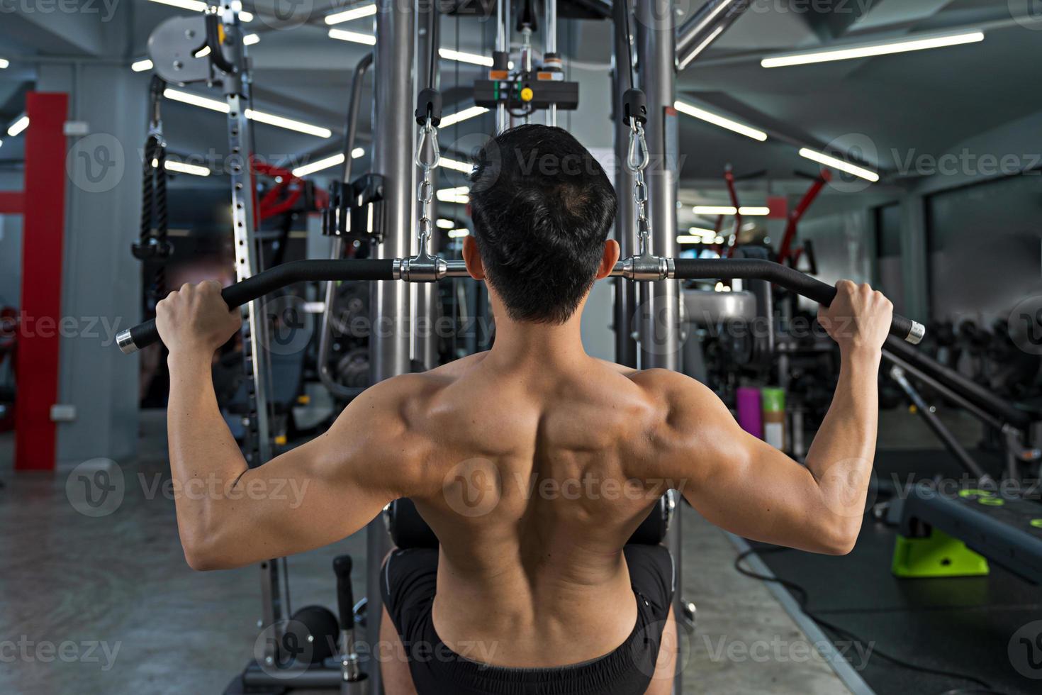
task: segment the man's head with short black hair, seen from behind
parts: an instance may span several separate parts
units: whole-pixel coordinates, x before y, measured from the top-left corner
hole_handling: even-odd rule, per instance
[[[486,145],[470,204],[483,275],[516,321],[564,323],[618,256],[612,183],[562,128],[522,125]]]

